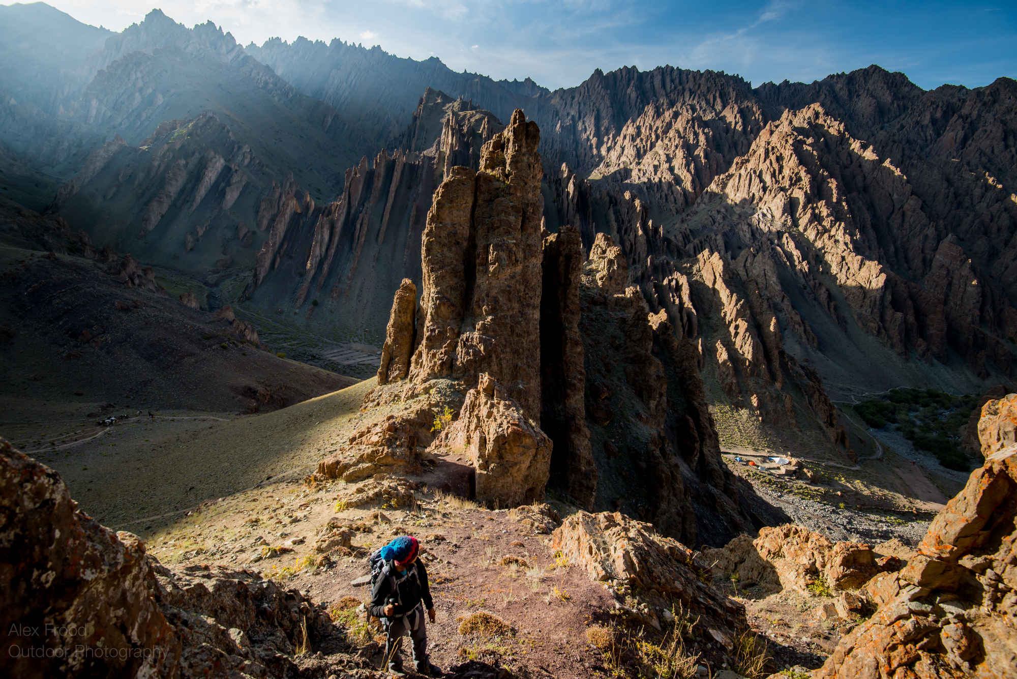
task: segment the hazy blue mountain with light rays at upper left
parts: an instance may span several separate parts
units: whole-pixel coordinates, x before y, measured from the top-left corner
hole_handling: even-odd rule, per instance
[[[309,214],[359,157],[334,109],[211,23],[189,29],[154,10],[91,62],[104,68],[57,122],[113,138],[55,207],[96,242],[146,262],[210,281],[227,268],[244,275],[280,213]],[[303,207],[271,198],[284,184]]]

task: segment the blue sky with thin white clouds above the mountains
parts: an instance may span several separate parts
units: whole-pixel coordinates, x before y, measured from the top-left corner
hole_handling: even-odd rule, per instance
[[[155,0],[149,0],[155,3]],[[148,4],[53,0],[80,21],[121,30]],[[618,2],[616,0],[169,0],[187,25],[212,19],[238,42],[340,38],[403,57],[433,55],[494,78],[571,86],[623,65],[738,73],[754,84],[811,82],[872,63],[918,85],[1017,77],[1017,2]]]

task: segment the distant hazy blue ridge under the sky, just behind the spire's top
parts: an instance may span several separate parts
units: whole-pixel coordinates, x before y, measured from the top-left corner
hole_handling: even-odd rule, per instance
[[[410,122],[426,87],[507,120],[515,109],[529,110],[530,100],[548,90],[530,78],[492,80],[476,73],[457,73],[437,57],[402,59],[381,50],[333,40],[325,45],[298,38],[292,44],[276,38],[260,47],[244,48],[271,66],[300,91],[342,111],[362,131],[365,149],[385,145]]]

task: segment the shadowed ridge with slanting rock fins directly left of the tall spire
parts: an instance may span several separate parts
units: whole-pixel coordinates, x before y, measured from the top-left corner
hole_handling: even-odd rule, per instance
[[[502,127],[491,113],[428,89],[392,155],[362,158],[322,208],[273,223],[245,296],[318,326],[383,336],[400,282],[420,280],[434,189],[453,166],[476,167],[481,145]],[[290,190],[281,187],[281,202],[293,204]]]

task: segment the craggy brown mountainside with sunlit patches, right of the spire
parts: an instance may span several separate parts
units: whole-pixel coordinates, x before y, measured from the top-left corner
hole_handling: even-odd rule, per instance
[[[651,310],[702,335],[711,398],[816,419],[847,446],[821,377],[841,397],[1011,379],[1012,80],[925,92],[871,67],[751,90],[679,75],[608,74],[637,109],[667,92],[624,125],[610,98],[574,106],[571,125],[585,115],[613,141],[573,146],[549,221],[615,236]],[[727,96],[699,90],[707,76]]]

